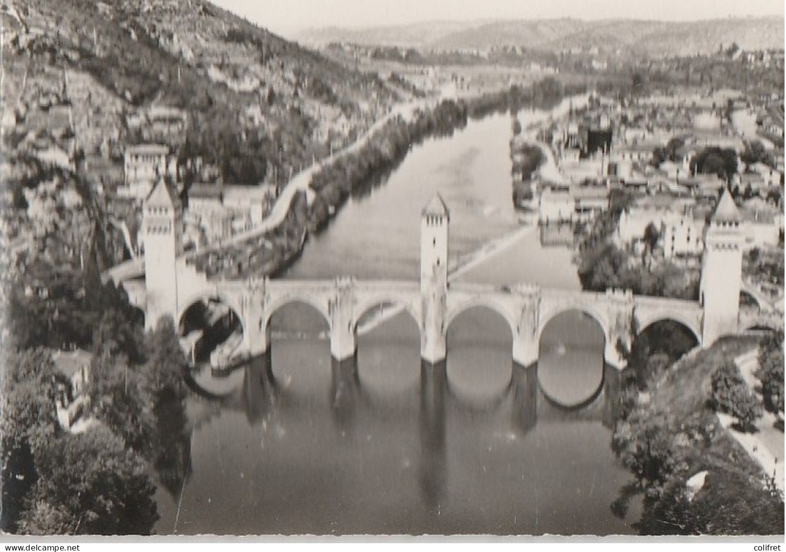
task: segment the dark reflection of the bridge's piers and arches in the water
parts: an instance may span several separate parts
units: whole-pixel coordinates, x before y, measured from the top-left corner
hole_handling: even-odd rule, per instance
[[[252,359],[241,370],[242,380],[236,388],[224,396],[208,399],[212,407],[202,409],[201,418],[193,420],[197,427],[210,423],[214,416],[226,410],[243,413],[250,425],[268,425],[277,420],[291,427],[296,425],[293,419],[314,416],[313,397],[303,396],[278,381],[270,355]],[[480,403],[453,392],[445,362],[436,365],[424,362],[417,390],[381,396],[362,384],[354,359],[333,360],[324,408],[336,435],[350,440],[365,436],[369,425],[381,427],[382,431],[386,425],[401,425],[408,431],[406,427],[414,415],[417,425],[413,429],[418,432],[420,443],[417,466],[421,495],[428,506],[435,506],[443,498],[449,477],[446,457],[450,419],[469,417],[473,421],[468,424],[482,426],[485,421],[509,412],[508,432],[515,438],[525,438],[538,421],[600,421],[611,427],[619,385],[619,370],[606,366],[601,387],[591,399],[578,407],[560,407],[540,391],[537,366],[524,367],[513,362],[509,384],[498,396]],[[201,392],[198,388],[196,391]],[[413,393],[418,396],[417,406],[411,402]]]

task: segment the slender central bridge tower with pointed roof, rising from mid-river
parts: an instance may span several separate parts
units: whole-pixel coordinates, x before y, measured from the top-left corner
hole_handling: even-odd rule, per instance
[[[447,235],[450,212],[439,193],[421,215],[421,298],[424,328],[421,357],[432,364],[445,359]]]

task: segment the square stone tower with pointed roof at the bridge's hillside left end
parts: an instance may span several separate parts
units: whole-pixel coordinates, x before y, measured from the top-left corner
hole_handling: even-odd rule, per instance
[[[153,186],[142,205],[142,239],[145,246],[145,327],[156,327],[159,318],[178,312],[175,259],[180,244],[180,201],[163,178]],[[175,324],[177,321],[175,321]]]

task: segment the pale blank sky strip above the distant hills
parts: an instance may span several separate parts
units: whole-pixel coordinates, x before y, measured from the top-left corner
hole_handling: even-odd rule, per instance
[[[362,28],[433,20],[700,20],[776,15],[783,0],[211,0],[282,35],[304,28]]]

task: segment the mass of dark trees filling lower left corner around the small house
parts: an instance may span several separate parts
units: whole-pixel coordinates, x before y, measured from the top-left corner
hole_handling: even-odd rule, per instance
[[[185,358],[174,326],[161,322],[143,336],[125,296],[101,285],[90,264],[49,296],[25,296],[20,282],[6,282],[0,450],[8,532],[149,534],[158,516],[147,466],[167,489],[185,476]],[[53,364],[64,342],[92,351],[83,411],[92,425],[79,434],[55,418],[70,386]]]

